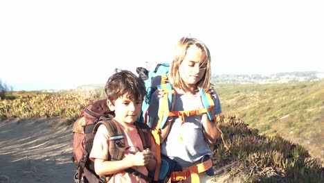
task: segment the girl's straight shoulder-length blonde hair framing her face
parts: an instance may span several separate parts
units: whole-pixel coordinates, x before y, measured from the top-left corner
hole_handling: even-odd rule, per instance
[[[197,87],[204,89],[207,92],[210,87],[210,53],[207,46],[195,38],[182,37],[175,47],[174,58],[170,64],[169,80],[172,86],[179,87],[186,91],[186,83],[183,82],[179,75],[179,66],[183,59],[186,57],[187,50],[190,46],[197,46],[201,50],[202,55],[204,55],[204,62],[199,63],[200,65],[206,65],[206,71],[204,76],[197,82]]]

